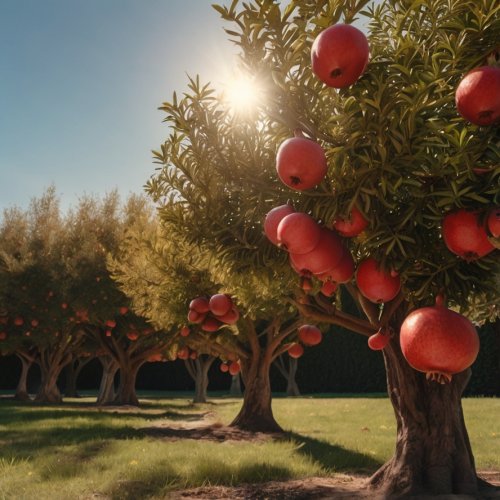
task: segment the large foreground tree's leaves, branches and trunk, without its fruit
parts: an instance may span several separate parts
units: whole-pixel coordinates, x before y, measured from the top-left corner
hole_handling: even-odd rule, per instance
[[[498,314],[497,252],[461,259],[446,248],[441,231],[447,213],[465,208],[484,216],[498,205],[499,128],[466,122],[454,96],[460,79],[486,64],[497,46],[500,6],[488,0],[367,4],[257,0],[216,7],[231,23],[247,78],[261,82],[267,100],[242,119],[209,86],[191,81],[188,95],[174,95],[162,107],[171,134],[155,153],[163,168],[148,191],[163,220],[224,263],[218,271],[228,282],[245,276],[241,296],[252,295],[254,304],[263,297],[274,303],[292,289],[285,256],[262,235],[270,208],[290,199],[331,227],[356,207],[368,227],[344,244],[356,262],[372,257],[395,270],[401,292],[382,306],[367,300],[356,281],[347,283],[361,319],[341,310],[338,294],[325,300],[319,285],[297,307],[366,336],[391,332],[383,355],[397,444],[372,484],[394,495],[475,494],[483,484],[460,404],[469,371],[445,385],[427,381],[402,356],[399,329],[408,312],[439,293],[475,321]],[[326,87],[311,71],[312,42],[326,27],[356,16],[368,23],[370,63],[354,85]],[[274,170],[279,145],[296,129],[322,145],[328,162],[326,179],[306,192],[284,188]]]

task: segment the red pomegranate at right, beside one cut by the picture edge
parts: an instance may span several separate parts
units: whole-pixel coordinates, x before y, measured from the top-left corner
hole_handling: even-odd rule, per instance
[[[442,230],[448,250],[462,259],[479,259],[494,249],[477,212],[462,208],[449,213],[443,218]]]

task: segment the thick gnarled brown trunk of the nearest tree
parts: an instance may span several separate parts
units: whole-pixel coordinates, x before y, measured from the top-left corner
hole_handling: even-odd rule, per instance
[[[398,498],[477,495],[478,478],[461,405],[470,370],[441,385],[408,365],[399,338],[393,338],[383,353],[397,439],[394,456],[370,478],[371,486]]]

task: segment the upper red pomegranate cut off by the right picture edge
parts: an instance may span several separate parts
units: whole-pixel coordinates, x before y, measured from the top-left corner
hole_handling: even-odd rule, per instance
[[[459,83],[455,102],[458,112],[475,125],[500,120],[500,68],[481,66],[469,71]]]

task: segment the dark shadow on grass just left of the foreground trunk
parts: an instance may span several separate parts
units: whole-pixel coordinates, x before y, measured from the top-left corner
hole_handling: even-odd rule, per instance
[[[294,432],[287,432],[286,438],[298,443],[296,448],[298,453],[311,457],[325,469],[366,474],[376,471],[383,465],[382,462],[370,455],[349,450],[320,439]]]

